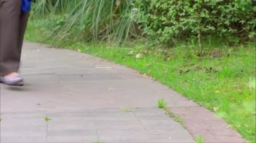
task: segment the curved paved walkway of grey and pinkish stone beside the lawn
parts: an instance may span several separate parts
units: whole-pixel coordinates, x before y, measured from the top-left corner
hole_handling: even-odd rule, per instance
[[[1,142],[195,142],[191,134],[246,142],[212,112],[135,70],[75,51],[24,47],[24,87],[1,85]],[[156,107],[160,98],[188,131]]]

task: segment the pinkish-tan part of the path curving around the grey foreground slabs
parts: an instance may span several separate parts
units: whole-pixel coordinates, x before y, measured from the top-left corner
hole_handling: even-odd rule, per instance
[[[194,138],[202,136],[204,142],[248,142],[214,113],[167,86],[95,56],[26,42],[21,73],[24,87],[0,85],[2,115],[85,109],[155,110],[156,101],[163,98]]]

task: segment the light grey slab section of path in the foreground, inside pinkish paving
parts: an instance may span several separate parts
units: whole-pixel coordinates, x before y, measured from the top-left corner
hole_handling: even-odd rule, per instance
[[[162,114],[162,109],[152,109],[152,114],[149,113],[150,109],[139,110],[136,109],[139,115],[135,115],[133,111],[124,113],[120,109],[51,112],[47,113],[49,116],[53,115],[49,122],[45,122],[43,117],[9,117],[1,124],[1,131],[7,130],[1,137],[47,136],[46,142],[168,142],[183,139],[183,136],[177,137],[181,134],[191,138],[189,134],[184,134],[182,126]],[[175,130],[169,127],[173,125],[176,126]],[[177,138],[170,140],[166,136]]]

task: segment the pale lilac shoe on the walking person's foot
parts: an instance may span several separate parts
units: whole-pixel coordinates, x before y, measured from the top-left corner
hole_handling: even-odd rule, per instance
[[[0,82],[6,85],[22,86],[24,85],[22,77],[18,73],[9,73],[3,77],[0,77]]]

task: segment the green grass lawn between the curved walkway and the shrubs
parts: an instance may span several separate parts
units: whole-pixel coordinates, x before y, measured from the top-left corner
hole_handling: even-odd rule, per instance
[[[26,39],[39,42],[50,33],[38,21],[30,21]],[[243,137],[255,142],[255,44],[203,44],[203,56],[198,57],[195,44],[166,49],[146,48],[141,43],[116,48],[68,40],[57,42],[54,38],[44,42],[139,70],[214,111]]]

